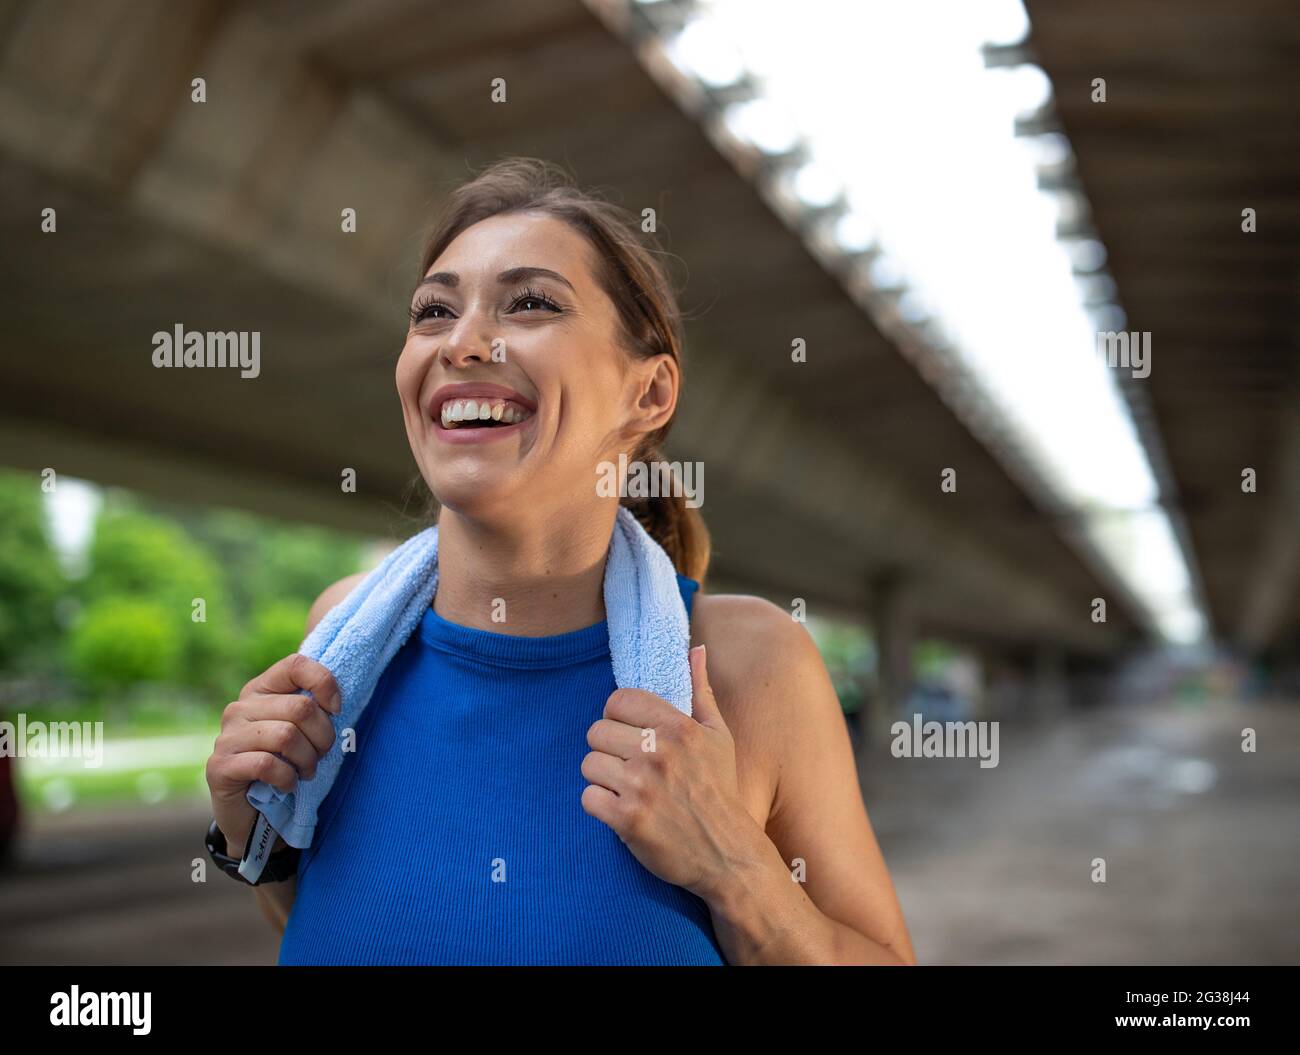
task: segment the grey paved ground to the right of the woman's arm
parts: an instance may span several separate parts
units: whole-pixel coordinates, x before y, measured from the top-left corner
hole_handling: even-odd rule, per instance
[[[863,776],[922,961],[1300,963],[1295,702],[1004,722],[1000,748]]]

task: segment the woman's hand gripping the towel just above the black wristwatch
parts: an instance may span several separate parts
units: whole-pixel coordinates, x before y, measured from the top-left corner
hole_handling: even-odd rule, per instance
[[[312,695],[302,695],[303,689]],[[325,712],[337,715],[341,708],[334,676],[298,652],[268,667],[226,705],[207,777],[212,816],[230,856],[243,854],[257,817],[248,786],[265,781],[292,791],[299,777],[313,777],[317,761],[334,746],[334,726]],[[283,845],[276,839],[276,847]]]

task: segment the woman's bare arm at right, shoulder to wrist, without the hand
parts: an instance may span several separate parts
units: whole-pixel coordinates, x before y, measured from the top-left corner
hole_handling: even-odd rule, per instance
[[[844,712],[812,638],[757,598],[702,595],[719,708],[766,744],[776,787],[714,889],[702,893],[732,963],[915,964],[862,800]]]

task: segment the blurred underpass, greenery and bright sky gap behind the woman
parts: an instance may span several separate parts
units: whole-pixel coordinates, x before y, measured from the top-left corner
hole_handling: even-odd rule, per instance
[[[1295,963],[1297,110],[1282,0],[0,4],[0,720],[104,738],[0,751],[0,963],[274,961],[204,763],[420,526],[404,305],[504,155],[675,255],[706,589],[807,613],[920,961]]]

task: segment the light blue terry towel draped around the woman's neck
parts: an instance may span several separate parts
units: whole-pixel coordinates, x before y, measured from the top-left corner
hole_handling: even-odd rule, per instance
[[[342,731],[356,729],[380,676],[411,637],[438,589],[438,529],[407,539],[334,605],[298,651],[334,674],[343,707],[332,715],[335,741],[311,780],[294,791],[263,781],[248,787],[260,816],[240,873],[261,874],[274,845],[311,846],[316,815],[343,765]],[[644,689],[690,713],[690,626],[672,561],[637,518],[619,507],[604,564],[604,611],[614,681]],[[304,690],[306,691],[306,690]]]

